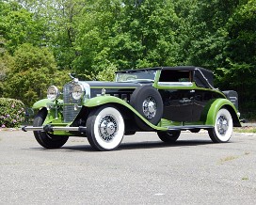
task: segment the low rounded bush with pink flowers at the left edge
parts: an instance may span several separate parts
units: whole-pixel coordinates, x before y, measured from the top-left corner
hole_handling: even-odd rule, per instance
[[[24,103],[16,99],[0,98],[0,127],[19,127],[24,121]]]

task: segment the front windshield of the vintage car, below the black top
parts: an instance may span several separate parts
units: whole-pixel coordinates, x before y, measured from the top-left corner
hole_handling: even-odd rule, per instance
[[[150,81],[153,82],[155,70],[118,72],[116,82]]]

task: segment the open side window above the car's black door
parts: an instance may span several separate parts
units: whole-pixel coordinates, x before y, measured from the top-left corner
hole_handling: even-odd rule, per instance
[[[192,81],[191,71],[161,71],[159,82],[187,83]]]

